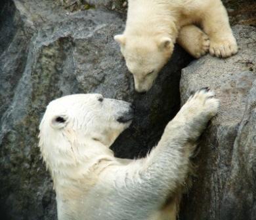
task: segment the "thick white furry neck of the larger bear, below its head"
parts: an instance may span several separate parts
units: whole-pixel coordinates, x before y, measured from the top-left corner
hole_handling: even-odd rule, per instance
[[[92,179],[91,175],[100,172],[102,169],[100,166],[104,164],[102,161],[114,162],[113,151],[95,142],[74,143],[68,148],[53,146],[50,147],[51,153],[43,152],[43,158],[53,177],[56,193],[66,191],[72,185],[74,189],[82,189],[81,185],[86,179]]]

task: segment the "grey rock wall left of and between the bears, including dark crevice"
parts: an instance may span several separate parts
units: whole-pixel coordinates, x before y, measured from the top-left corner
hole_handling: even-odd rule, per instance
[[[52,181],[37,148],[47,103],[87,92],[133,101],[135,120],[112,149],[120,157],[144,156],[179,109],[181,68],[190,57],[178,48],[152,90],[137,94],[113,40],[125,20],[113,10],[67,14],[52,0],[0,4],[1,219],[56,219]]]

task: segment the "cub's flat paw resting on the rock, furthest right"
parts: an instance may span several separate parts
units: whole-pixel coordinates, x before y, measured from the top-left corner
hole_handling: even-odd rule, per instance
[[[223,40],[211,39],[209,52],[218,58],[228,58],[238,52],[236,39],[233,36]]]

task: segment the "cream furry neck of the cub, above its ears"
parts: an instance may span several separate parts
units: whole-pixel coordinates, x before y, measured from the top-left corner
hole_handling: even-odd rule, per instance
[[[125,35],[129,37],[170,37],[176,41],[177,12],[163,1],[129,1]]]

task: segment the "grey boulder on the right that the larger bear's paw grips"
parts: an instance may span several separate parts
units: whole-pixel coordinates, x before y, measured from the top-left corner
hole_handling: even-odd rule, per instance
[[[192,189],[181,219],[256,219],[256,28],[235,26],[240,50],[226,60],[207,55],[182,70],[181,100],[209,86],[221,100],[200,141]]]

